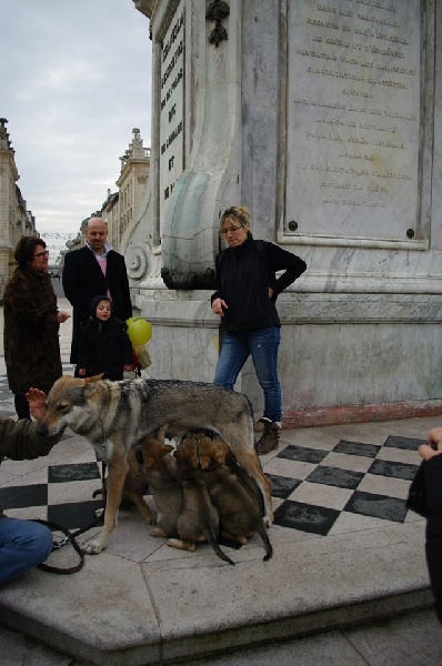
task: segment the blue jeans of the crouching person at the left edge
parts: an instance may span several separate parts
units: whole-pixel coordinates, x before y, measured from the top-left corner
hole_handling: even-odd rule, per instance
[[[52,532],[20,518],[0,518],[0,585],[26,574],[52,552]]]

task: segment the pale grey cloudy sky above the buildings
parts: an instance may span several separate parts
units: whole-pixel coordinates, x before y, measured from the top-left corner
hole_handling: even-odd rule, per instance
[[[0,0],[0,117],[44,233],[77,233],[117,190],[139,128],[150,147],[149,20],[132,0]]]

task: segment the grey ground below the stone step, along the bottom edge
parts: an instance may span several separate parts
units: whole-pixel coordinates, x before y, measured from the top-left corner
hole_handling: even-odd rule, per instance
[[[185,662],[189,666],[440,666],[442,629],[432,610]],[[88,666],[0,626],[2,666]],[[175,662],[179,663],[179,662]],[[123,665],[123,662],[121,662]]]

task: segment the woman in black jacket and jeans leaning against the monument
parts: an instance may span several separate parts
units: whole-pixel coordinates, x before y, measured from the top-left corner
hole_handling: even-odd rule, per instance
[[[307,269],[302,259],[274,243],[255,241],[250,232],[250,211],[229,208],[220,220],[220,231],[229,243],[217,256],[217,291],[212,310],[221,316],[222,346],[214,384],[233,389],[249,355],[264,394],[260,421],[264,433],[257,452],[278,447],[282,425],[278,351],[281,340],[277,297]],[[278,271],[284,271],[277,278]]]

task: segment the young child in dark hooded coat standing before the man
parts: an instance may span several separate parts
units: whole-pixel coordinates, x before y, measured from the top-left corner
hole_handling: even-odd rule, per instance
[[[125,324],[112,314],[108,296],[96,296],[79,345],[78,375],[92,377],[104,373],[104,380],[122,380],[132,370],[132,343]]]

